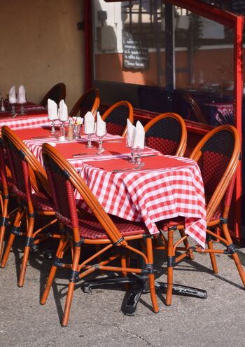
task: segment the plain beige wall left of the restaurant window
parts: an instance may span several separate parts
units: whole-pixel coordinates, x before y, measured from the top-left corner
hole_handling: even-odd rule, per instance
[[[0,88],[23,84],[39,102],[56,83],[66,84],[69,109],[84,90],[83,0],[1,0]]]

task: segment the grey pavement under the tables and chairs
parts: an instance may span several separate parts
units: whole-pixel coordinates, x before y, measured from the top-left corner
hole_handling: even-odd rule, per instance
[[[51,261],[31,254],[25,287],[18,288],[20,259],[15,249],[6,268],[0,269],[0,346],[244,346],[244,288],[234,261],[224,255],[216,258],[218,275],[211,272],[208,254],[195,254],[194,261],[183,261],[174,268],[174,283],[206,289],[207,299],[174,296],[172,306],[165,306],[165,295],[160,294],[160,313],[155,314],[149,294],[145,294],[137,315],[128,317],[120,311],[123,290],[97,289],[84,294],[78,284],[69,325],[62,328],[59,319],[68,283],[64,272],[58,271],[50,297],[41,306]],[[162,252],[155,252],[155,261],[157,277],[166,281]]]

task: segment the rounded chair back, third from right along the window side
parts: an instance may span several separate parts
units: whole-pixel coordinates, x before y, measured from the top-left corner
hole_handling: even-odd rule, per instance
[[[102,115],[102,120],[106,121],[107,132],[123,137],[127,133],[127,118],[130,119],[131,123],[134,123],[134,110],[128,101],[116,102]]]

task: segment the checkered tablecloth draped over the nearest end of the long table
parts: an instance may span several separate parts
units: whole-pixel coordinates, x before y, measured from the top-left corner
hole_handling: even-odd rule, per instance
[[[148,170],[145,165],[142,170],[113,173],[109,168],[115,165],[113,161],[109,165],[94,161],[84,163],[80,175],[107,213],[135,222],[143,220],[151,234],[159,233],[155,222],[185,217],[186,233],[204,249],[206,209],[197,163],[175,156],[158,156],[158,165],[153,166],[151,163],[156,158],[143,158],[143,161],[153,169]],[[165,168],[164,161],[169,167]],[[80,200],[78,192],[76,199]],[[83,200],[80,206],[85,208]]]

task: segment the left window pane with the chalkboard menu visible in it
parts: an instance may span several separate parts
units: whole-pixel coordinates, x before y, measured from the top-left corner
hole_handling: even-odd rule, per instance
[[[164,86],[165,5],[94,1],[94,79]]]

